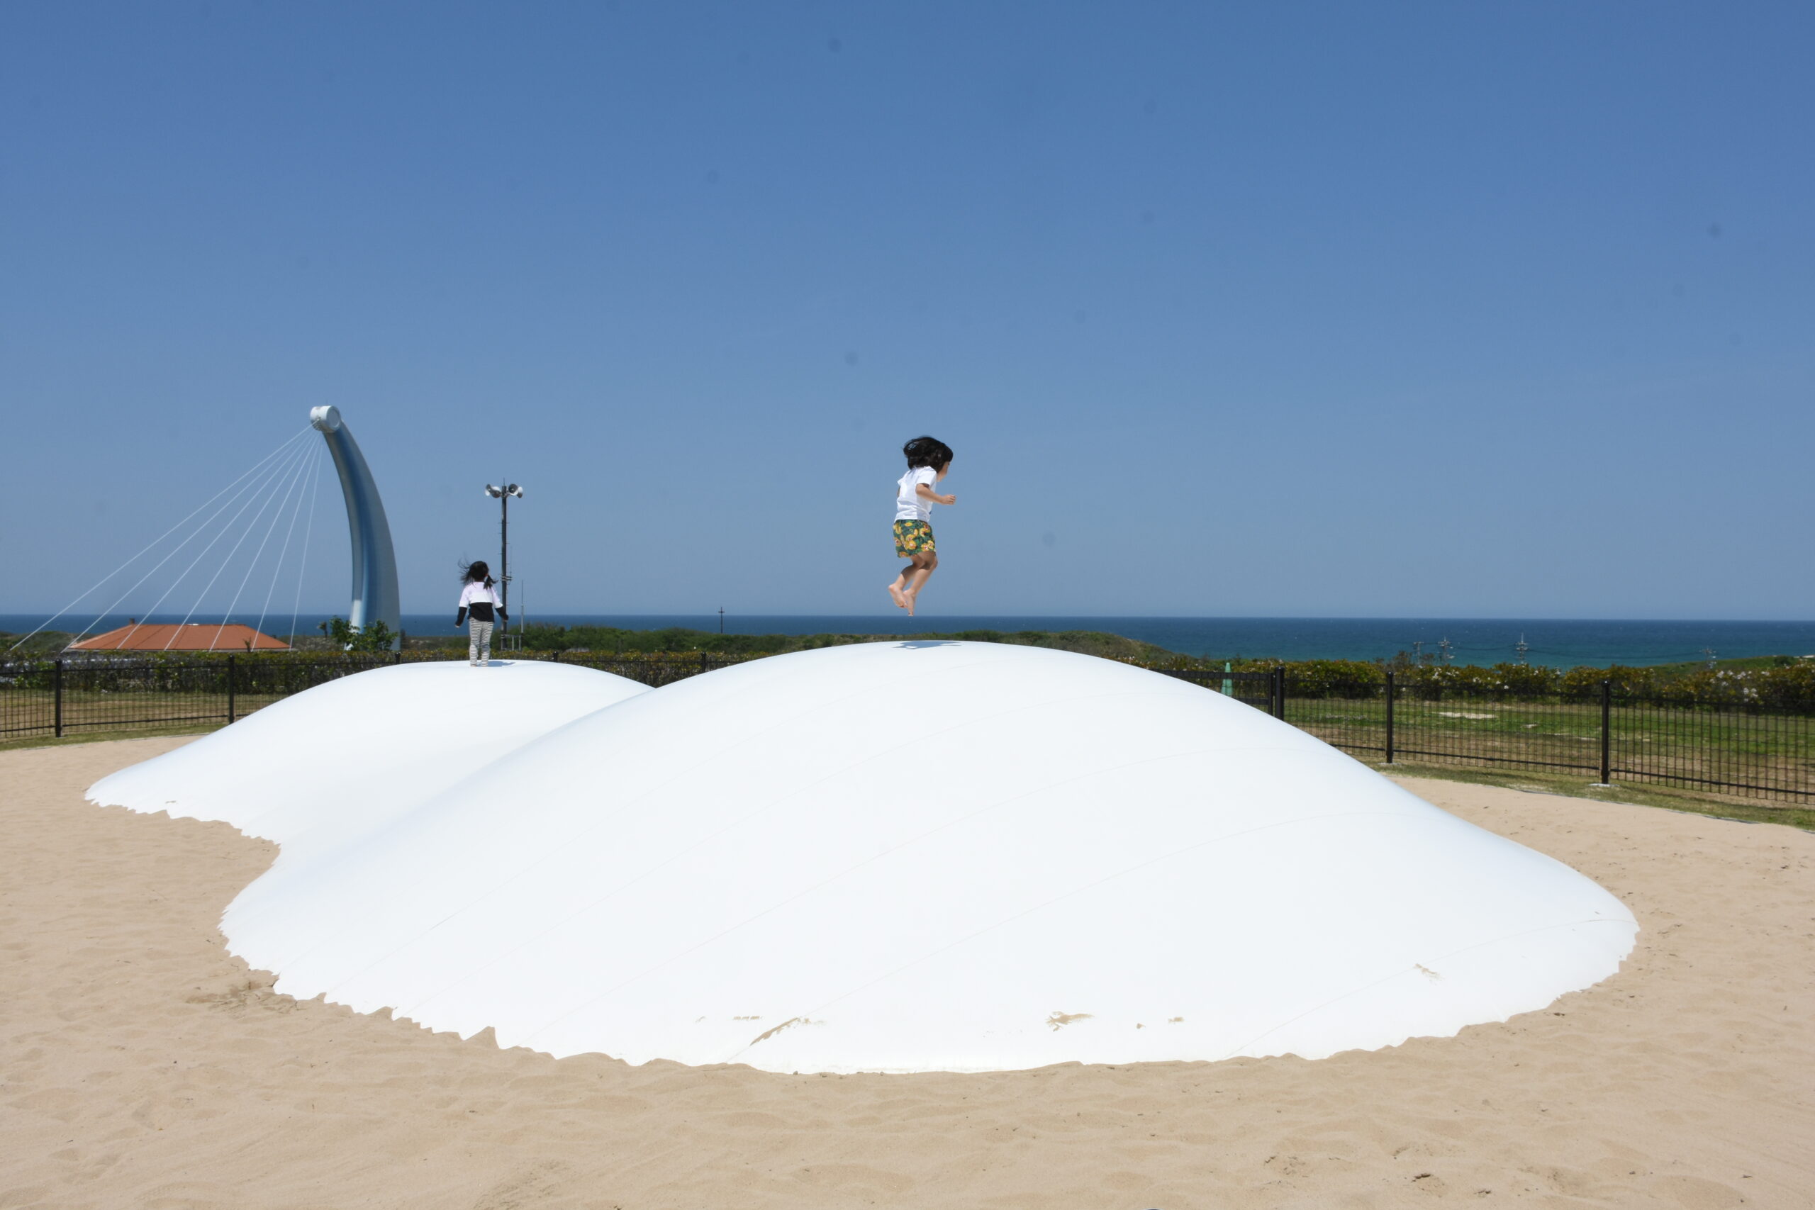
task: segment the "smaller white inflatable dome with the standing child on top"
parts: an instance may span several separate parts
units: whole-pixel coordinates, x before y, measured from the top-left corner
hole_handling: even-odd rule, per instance
[[[394,664],[341,677],[103,776],[89,800],[225,820],[294,871],[476,769],[648,686],[541,660]]]

